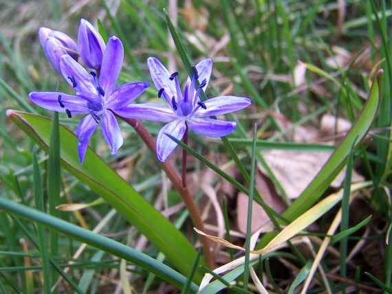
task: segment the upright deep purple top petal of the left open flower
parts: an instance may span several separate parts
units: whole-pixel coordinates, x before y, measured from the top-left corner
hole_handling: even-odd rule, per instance
[[[104,100],[107,101],[118,79],[118,74],[124,60],[124,47],[119,38],[112,36],[109,38],[107,47],[102,57],[100,67],[99,85],[105,91]]]

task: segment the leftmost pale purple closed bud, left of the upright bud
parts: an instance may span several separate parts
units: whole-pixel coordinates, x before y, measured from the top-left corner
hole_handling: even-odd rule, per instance
[[[72,58],[78,60],[76,43],[63,32],[50,30],[47,27],[40,27],[38,34],[47,60],[49,60],[50,64],[59,73],[61,73],[61,56],[69,54]]]

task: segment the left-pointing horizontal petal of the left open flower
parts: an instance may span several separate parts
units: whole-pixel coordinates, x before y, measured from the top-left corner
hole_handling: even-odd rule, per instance
[[[65,109],[68,109],[71,113],[76,114],[90,112],[87,101],[74,95],[60,92],[31,92],[29,98],[38,106],[52,111],[65,112]]]

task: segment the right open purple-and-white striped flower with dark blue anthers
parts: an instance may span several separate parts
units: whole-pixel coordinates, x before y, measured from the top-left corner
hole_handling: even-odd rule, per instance
[[[202,60],[193,67],[192,80],[188,78],[182,94],[177,80],[178,72],[170,74],[157,58],[149,57],[147,64],[151,78],[158,89],[158,97],[163,96],[169,107],[160,104],[130,104],[116,111],[123,117],[156,122],[168,122],[157,135],[157,157],[165,161],[177,146],[166,134],[181,140],[187,126],[196,133],[222,137],[230,134],[236,127],[236,122],[214,120],[208,116],[221,115],[244,109],[251,104],[249,98],[237,96],[220,96],[202,102],[199,93],[207,87],[210,80],[213,62]],[[199,87],[196,87],[199,80]]]

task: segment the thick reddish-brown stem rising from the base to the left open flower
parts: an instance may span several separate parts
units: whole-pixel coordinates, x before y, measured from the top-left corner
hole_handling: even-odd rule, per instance
[[[116,114],[116,113],[115,113]],[[155,139],[151,136],[149,131],[146,129],[144,124],[140,122],[139,120],[133,120],[131,118],[126,118],[126,117],[121,117],[119,115],[116,115],[120,117],[124,122],[127,122],[130,126],[133,127],[133,129],[138,133],[138,135],[142,138],[144,141],[144,144],[151,150],[153,155],[156,157],[157,152],[155,148]],[[171,183],[173,183],[173,186],[177,192],[181,195],[182,201],[184,201],[184,204],[190,214],[190,218],[192,219],[193,225],[200,231],[206,231],[204,228],[204,223],[202,220],[202,216],[199,214],[199,210],[197,209],[195,201],[193,201],[193,197],[190,195],[190,192],[188,188],[186,188],[186,185],[183,185],[183,182],[181,179],[179,179],[179,176],[175,170],[175,168],[169,163],[169,161],[164,161],[160,162],[160,166],[166,173],[168,179],[170,179]],[[200,241],[203,244],[203,251],[204,251],[204,256],[206,258],[206,262],[208,264],[208,267],[210,269],[215,269],[215,262],[213,259],[212,252],[210,251],[210,241],[208,238],[204,236],[199,236]]]

